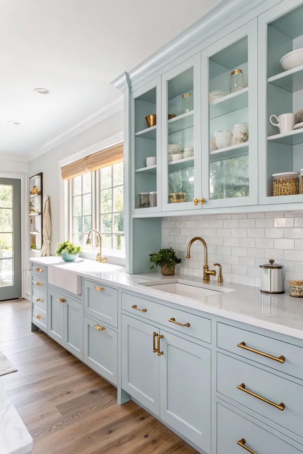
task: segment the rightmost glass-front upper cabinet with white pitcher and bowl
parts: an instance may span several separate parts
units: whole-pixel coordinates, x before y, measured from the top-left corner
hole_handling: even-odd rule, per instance
[[[258,19],[259,203],[303,202],[300,3],[282,1]]]

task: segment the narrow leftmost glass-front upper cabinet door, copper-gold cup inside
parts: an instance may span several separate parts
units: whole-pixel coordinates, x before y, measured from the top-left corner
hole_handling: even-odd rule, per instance
[[[133,212],[161,211],[161,77],[132,93]]]

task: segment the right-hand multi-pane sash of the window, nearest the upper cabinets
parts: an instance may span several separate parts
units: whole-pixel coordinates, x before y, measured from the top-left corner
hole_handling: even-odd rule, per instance
[[[113,251],[124,251],[123,163],[100,169],[99,182],[103,247]]]

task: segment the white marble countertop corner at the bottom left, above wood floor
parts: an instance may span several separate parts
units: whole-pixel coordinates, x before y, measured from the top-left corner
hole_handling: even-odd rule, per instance
[[[0,383],[0,453],[28,454],[33,439]]]

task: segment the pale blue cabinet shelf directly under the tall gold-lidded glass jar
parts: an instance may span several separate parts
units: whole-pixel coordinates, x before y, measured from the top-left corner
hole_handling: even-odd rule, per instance
[[[248,106],[248,87],[209,103],[209,119],[229,114]]]

